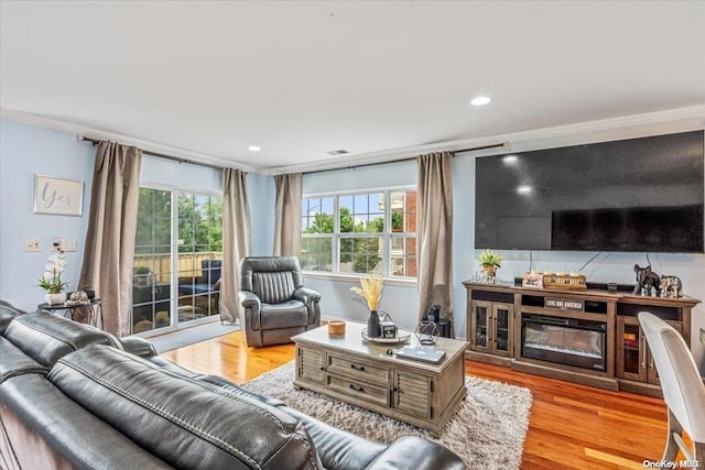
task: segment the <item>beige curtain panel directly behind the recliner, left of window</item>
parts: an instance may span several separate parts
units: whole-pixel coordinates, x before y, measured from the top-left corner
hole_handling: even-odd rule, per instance
[[[301,198],[303,175],[274,176],[276,216],[274,220],[274,256],[299,256],[301,253]]]

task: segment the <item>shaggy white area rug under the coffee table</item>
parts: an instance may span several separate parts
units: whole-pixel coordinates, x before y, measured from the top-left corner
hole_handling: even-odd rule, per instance
[[[307,390],[295,390],[294,361],[242,384],[243,389],[280,398],[288,406],[371,440],[389,444],[401,436],[435,440],[460,456],[468,469],[519,469],[529,427],[532,396],[528,389],[466,378],[460,402],[440,439],[427,430],[368,412]]]

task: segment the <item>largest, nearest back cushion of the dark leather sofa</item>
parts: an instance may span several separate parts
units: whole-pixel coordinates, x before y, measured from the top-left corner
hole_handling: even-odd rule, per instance
[[[293,416],[124,351],[90,346],[61,359],[48,379],[177,468],[321,467],[308,434]]]

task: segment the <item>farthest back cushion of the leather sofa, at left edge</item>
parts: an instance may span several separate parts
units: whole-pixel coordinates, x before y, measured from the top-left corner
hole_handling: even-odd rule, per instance
[[[122,348],[113,336],[97,328],[43,311],[15,317],[3,336],[30,358],[48,368],[69,352],[88,345]]]

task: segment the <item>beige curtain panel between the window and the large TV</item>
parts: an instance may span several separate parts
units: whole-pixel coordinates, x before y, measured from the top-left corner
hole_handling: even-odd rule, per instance
[[[441,305],[441,316],[453,325],[452,159],[448,152],[416,157],[416,253],[419,319],[432,305]]]

